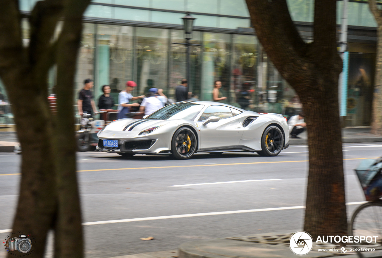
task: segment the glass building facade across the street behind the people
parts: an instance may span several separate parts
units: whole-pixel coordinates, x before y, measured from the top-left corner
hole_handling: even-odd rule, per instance
[[[19,0],[21,11],[28,15],[36,2]],[[287,2],[293,20],[311,27],[314,0]],[[343,2],[337,1],[337,6],[340,24]],[[93,0],[84,14],[76,92],[84,79],[92,78],[96,103],[105,84],[110,85],[118,103],[118,93],[125,89],[126,81],[134,80],[138,87],[133,96],[155,87],[175,99],[175,87],[186,78],[186,48],[173,43],[185,42],[180,18],[186,11],[196,18],[191,43],[203,45],[191,46],[190,50],[189,91],[196,98],[212,100],[214,81],[220,80],[225,103],[287,117],[302,110],[295,91],[269,61],[250,28],[245,0]],[[349,26],[375,31],[376,22],[367,3],[350,0],[348,15]],[[28,42],[26,19],[23,28]],[[301,35],[307,41],[312,39],[309,33]],[[370,125],[370,115],[366,114],[371,113],[375,42],[350,44],[349,51],[346,125]],[[49,85],[54,84],[53,67]]]

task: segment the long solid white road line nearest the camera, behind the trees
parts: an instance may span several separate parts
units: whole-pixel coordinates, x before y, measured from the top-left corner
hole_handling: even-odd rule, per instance
[[[366,202],[348,202],[346,203],[346,205],[356,205],[356,204],[364,204],[364,203]],[[82,223],[82,225],[90,226],[90,225],[113,224],[113,223],[134,222],[134,221],[165,220],[165,219],[175,219],[175,218],[190,218],[190,217],[214,216],[214,215],[237,214],[237,213],[248,213],[248,212],[271,212],[276,210],[295,210],[295,209],[304,209],[304,208],[305,206],[291,206],[291,207],[277,207],[277,208],[265,208],[265,209],[253,209],[253,210],[231,210],[228,212],[206,212],[206,213],[157,216],[157,217],[147,217],[147,218],[134,218],[134,219],[126,219],[126,220],[93,221],[93,222],[84,222]],[[6,233],[6,232],[12,232],[12,229],[0,230],[0,233]]]

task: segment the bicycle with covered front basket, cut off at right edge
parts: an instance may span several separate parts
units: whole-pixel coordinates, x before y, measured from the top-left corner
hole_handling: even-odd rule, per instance
[[[368,202],[353,212],[348,223],[349,236],[378,236],[376,244],[382,246],[382,159],[363,160],[355,169]]]

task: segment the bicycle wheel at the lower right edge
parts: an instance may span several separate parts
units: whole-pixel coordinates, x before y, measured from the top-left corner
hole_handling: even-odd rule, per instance
[[[367,202],[359,206],[348,225],[349,236],[378,236],[377,245],[382,245],[382,200]],[[362,242],[362,245],[375,245]]]

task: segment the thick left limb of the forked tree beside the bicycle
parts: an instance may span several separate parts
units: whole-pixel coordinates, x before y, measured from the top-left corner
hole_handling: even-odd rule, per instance
[[[246,2],[259,41],[277,70],[290,84],[307,87],[300,72],[295,72],[293,67],[309,70],[311,64],[304,58],[308,44],[303,42],[291,21],[286,0]]]

